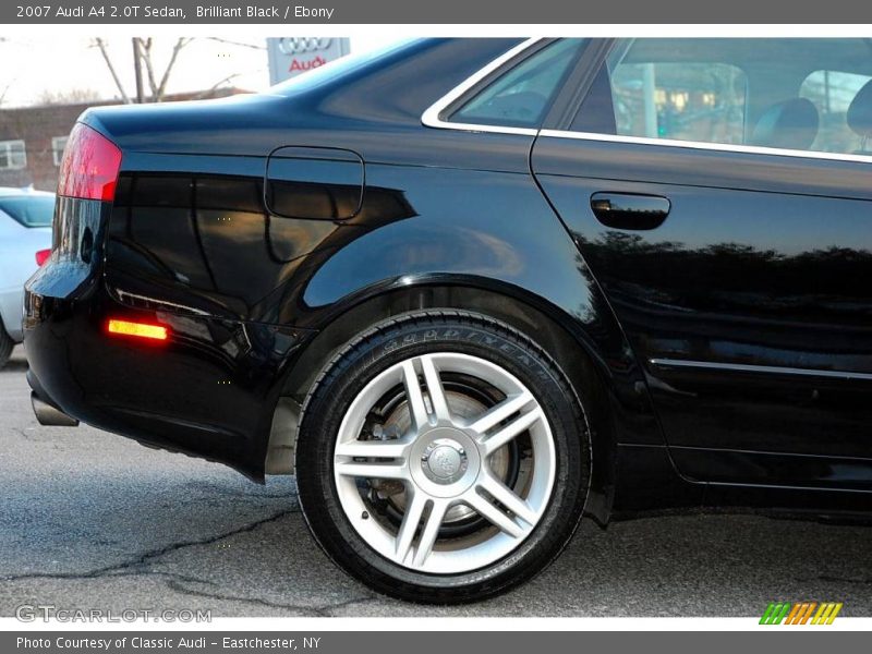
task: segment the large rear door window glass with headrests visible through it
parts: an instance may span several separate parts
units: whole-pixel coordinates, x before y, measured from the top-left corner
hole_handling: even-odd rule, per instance
[[[861,38],[618,39],[571,129],[869,155],[870,80]]]

